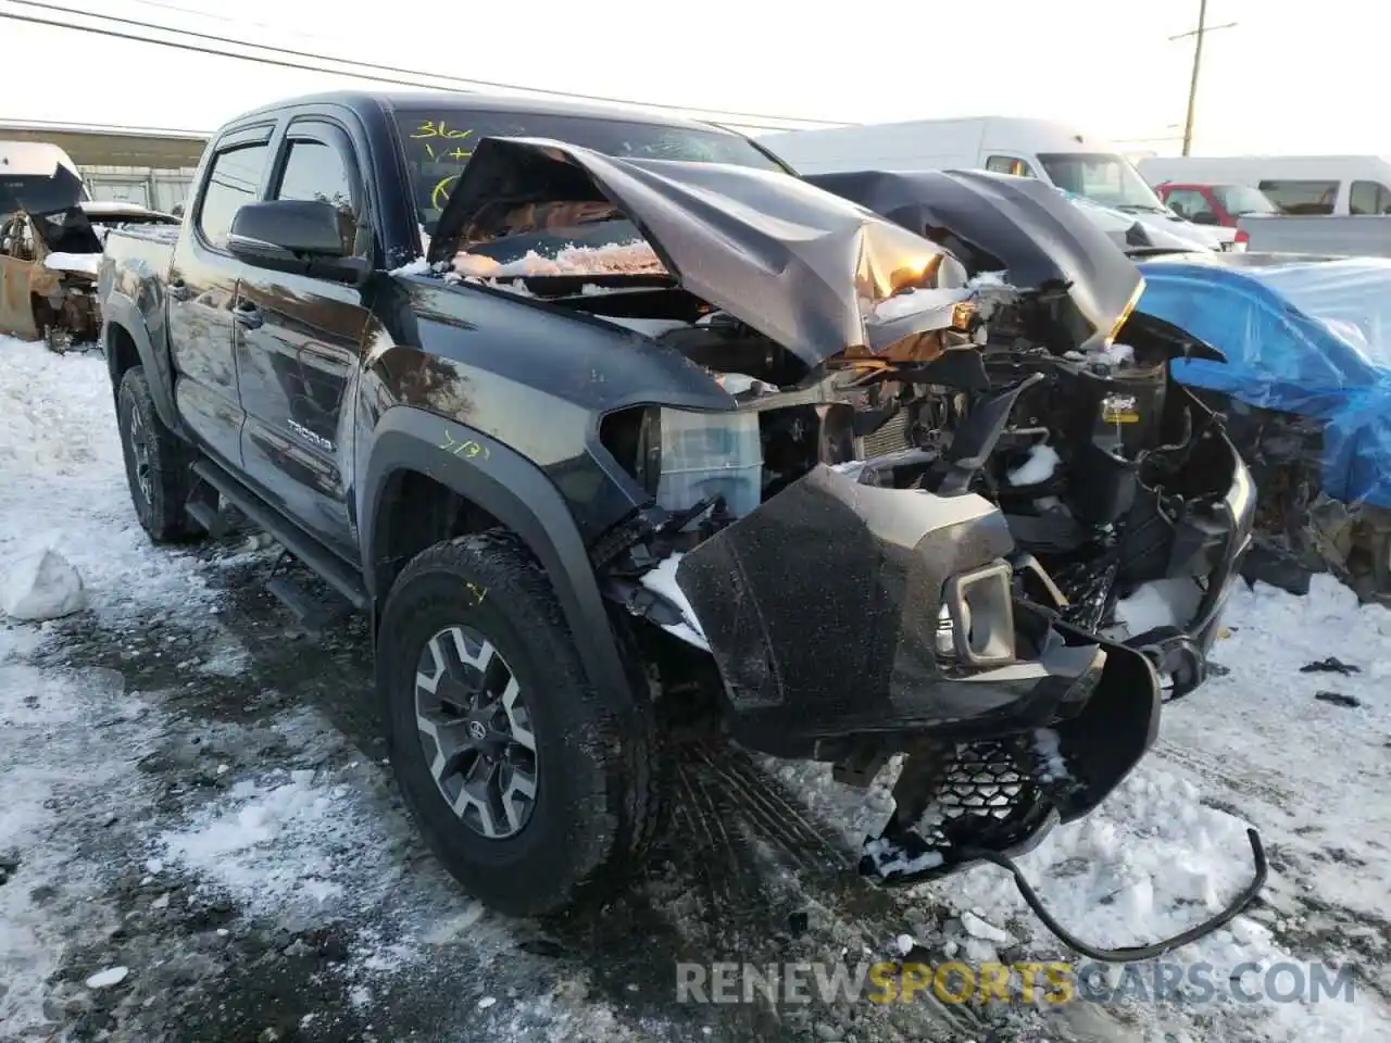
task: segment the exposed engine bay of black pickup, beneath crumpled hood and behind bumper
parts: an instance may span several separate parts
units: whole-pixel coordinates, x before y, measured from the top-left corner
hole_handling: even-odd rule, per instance
[[[835,188],[844,177],[822,181]],[[957,209],[975,206],[979,224],[978,203]],[[917,202],[911,213],[887,207],[908,227],[963,227],[961,213],[924,221],[922,210]],[[861,313],[907,335],[808,366],[675,286],[638,232],[606,202],[494,207],[474,214],[452,270],[633,330],[729,391],[727,413],[651,407],[604,420],[604,444],[657,505],[689,516],[665,538],[672,552],[693,549],[818,464],[878,487],[971,491],[1000,508],[1014,542],[1052,577],[1050,597],[1068,623],[1163,645],[1156,665],[1174,694],[1202,683],[1202,648],[1184,630],[1216,620],[1207,580],[1224,544],[1223,526],[1205,533],[1202,519],[1225,508],[1244,476],[1224,452],[1217,417],[1168,375],[1170,359],[1207,349],[1131,310],[1141,282],[1118,253],[1124,277],[1104,273],[1088,298],[1036,249],[1002,257],[944,234],[939,245],[951,252],[915,284],[860,300]],[[1077,267],[1097,267],[1089,246],[1071,248]],[[996,270],[1006,259],[1011,267]],[[1013,285],[1015,273],[1032,285]],[[1114,312],[1103,328],[1100,316]],[[1131,599],[1141,611],[1127,612]],[[1199,633],[1198,645],[1206,637]]]

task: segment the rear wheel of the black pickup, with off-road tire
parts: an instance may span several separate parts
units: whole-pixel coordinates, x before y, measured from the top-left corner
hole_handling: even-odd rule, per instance
[[[156,544],[188,542],[202,537],[202,526],[184,509],[192,485],[192,449],[160,420],[140,366],[132,366],[121,375],[115,394],[115,423],[121,432],[131,503],[140,527]],[[146,488],[142,488],[139,453],[132,439],[142,439],[146,449]]]

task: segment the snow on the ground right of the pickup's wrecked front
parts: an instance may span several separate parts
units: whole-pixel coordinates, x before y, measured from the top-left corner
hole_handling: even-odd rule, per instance
[[[1079,937],[1143,944],[1216,914],[1249,882],[1245,830],[1255,825],[1271,865],[1264,901],[1164,960],[1212,965],[1220,989],[1241,971],[1248,994],[1280,965],[1301,965],[1306,980],[1312,961],[1351,965],[1353,1003],[1245,1003],[1230,992],[1199,1003],[1189,990],[1187,1010],[1128,1003],[1127,1017],[1193,1043],[1391,1039],[1391,612],[1359,608],[1337,581],[1314,577],[1308,598],[1242,587],[1225,622],[1214,658],[1230,673],[1167,705],[1146,762],[1096,814],[1021,862]],[[1359,672],[1302,672],[1330,656]],[[1344,698],[1326,701],[1330,693]],[[814,805],[850,797],[819,768],[783,773]],[[861,812],[851,834],[872,822]],[[1031,958],[1067,958],[1000,869],[924,890],[968,925],[976,916],[947,939],[976,960],[996,958],[1006,935]],[[1283,969],[1273,992],[1287,996],[1292,973]],[[1118,989],[1123,976],[1111,975]],[[1138,980],[1152,993],[1159,979],[1149,969]]]

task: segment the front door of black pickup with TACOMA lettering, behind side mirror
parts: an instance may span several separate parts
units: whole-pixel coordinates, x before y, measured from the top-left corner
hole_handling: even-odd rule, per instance
[[[298,117],[277,149],[267,199],[334,203],[344,243],[367,256],[371,224],[359,170],[342,125],[324,115]],[[352,412],[345,403],[367,325],[362,291],[248,267],[234,318],[246,473],[273,506],[351,559]]]

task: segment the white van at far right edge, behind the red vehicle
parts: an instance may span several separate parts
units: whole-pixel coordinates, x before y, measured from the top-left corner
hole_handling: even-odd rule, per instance
[[[1383,156],[1156,156],[1139,161],[1150,185],[1246,185],[1287,214],[1391,214]]]

